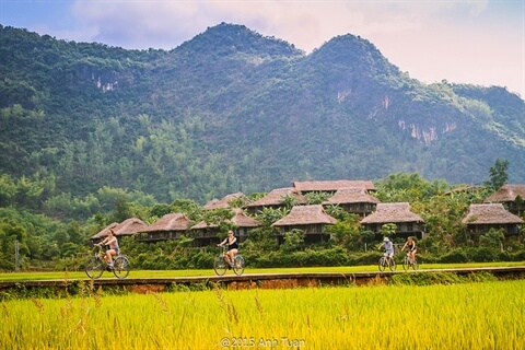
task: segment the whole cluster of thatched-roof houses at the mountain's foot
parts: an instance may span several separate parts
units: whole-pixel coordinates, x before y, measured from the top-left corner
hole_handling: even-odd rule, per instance
[[[231,223],[237,228],[236,235],[244,242],[250,230],[261,225],[253,218],[264,208],[281,208],[284,200],[292,199],[294,206],[289,214],[276,221],[271,226],[276,237],[282,242],[283,234],[298,229],[305,233],[306,243],[325,242],[329,240],[326,226],[337,223],[337,220],[326,213],[326,206],[339,206],[349,213],[358,214],[364,230],[381,235],[381,229],[386,223],[397,226],[396,236],[424,237],[424,221],[411,211],[408,202],[382,203],[373,196],[375,186],[370,180],[332,180],[332,182],[294,182],[292,187],[278,188],[257,201],[249,202],[243,208],[232,208],[231,203],[243,199],[244,194],[231,194],[222,199],[214,199],[205,205],[205,210],[231,209]],[[307,205],[308,192],[323,192],[329,196],[322,205]],[[482,205],[471,205],[469,212],[463,219],[467,226],[467,234],[475,237],[490,229],[503,229],[505,235],[516,236],[520,240],[521,228],[524,221],[518,217],[521,198],[525,198],[525,185],[504,185],[494,195],[486,199]],[[505,209],[509,208],[509,209]],[[514,212],[513,212],[514,211]],[[191,224],[184,213],[170,213],[148,225],[137,218],[121,223],[112,223],[92,241],[102,240],[113,229],[117,236],[132,235],[140,242],[158,242],[178,240],[182,235],[191,236],[195,246],[208,246],[219,242],[219,224],[199,222]]]

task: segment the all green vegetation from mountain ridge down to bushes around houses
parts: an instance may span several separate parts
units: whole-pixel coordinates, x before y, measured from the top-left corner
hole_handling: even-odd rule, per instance
[[[201,205],[226,194],[343,178],[374,179],[381,200],[410,201],[432,258],[453,243],[465,247],[454,259],[479,259],[459,222],[493,188],[444,192],[480,184],[499,159],[509,182],[525,182],[524,116],[524,101],[503,88],[424,85],[352,35],[305,55],[220,24],[171,51],[125,50],[0,25],[0,269],[14,268],[15,241],[23,268],[66,268],[110,222],[151,223],[170,211],[197,221]],[[369,259],[349,257],[366,234],[332,210],[340,223],[320,253],[305,253],[300,234],[278,248],[264,228],[243,247],[250,264]],[[190,237],[124,245],[143,268],[211,259],[188,249]]]

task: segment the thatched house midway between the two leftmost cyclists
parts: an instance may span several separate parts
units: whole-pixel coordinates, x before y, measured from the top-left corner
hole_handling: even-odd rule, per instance
[[[178,240],[188,229],[189,219],[184,213],[168,213],[150,226],[141,230],[136,238],[142,242]]]

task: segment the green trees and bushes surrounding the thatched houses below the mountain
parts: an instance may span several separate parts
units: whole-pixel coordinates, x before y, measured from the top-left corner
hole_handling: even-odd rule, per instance
[[[506,161],[498,160],[488,172],[485,185],[476,190],[462,190],[462,187],[450,186],[444,180],[429,182],[417,173],[398,173],[376,182],[378,190],[374,196],[382,202],[408,201],[411,210],[422,217],[425,237],[418,242],[418,255],[423,262],[523,260],[525,245],[521,237],[509,240],[502,231],[491,230],[472,242],[462,223],[470,203],[481,203],[505,183],[508,167]],[[26,178],[14,180],[5,175],[1,179],[0,270],[3,271],[82,269],[92,250],[90,237],[109,223],[129,218],[139,218],[151,224],[166,213],[182,212],[194,223],[202,220],[220,223],[223,229],[221,238],[229,229],[235,229],[228,222],[233,215],[230,209],[205,210],[191,199],[162,203],[143,192],[110,187],[83,198],[61,198],[62,208],[69,208],[68,212],[59,208],[58,200],[55,206],[44,205],[40,212],[34,210],[32,203],[42,199],[46,184]],[[242,208],[262,195],[265,192],[249,194],[246,199],[234,200],[230,206]],[[320,203],[326,199],[319,192],[306,197],[308,203]],[[282,200],[287,203],[287,198]],[[306,245],[303,233],[292,231],[284,234],[282,244],[277,244],[277,232],[271,224],[288,214],[291,206],[293,202],[284,209],[266,208],[255,214],[262,225],[253,230],[241,244],[249,267],[347,266],[376,261],[380,254],[374,247],[380,242],[375,242],[372,232],[364,231],[355,214],[338,206],[326,208],[326,212],[338,220],[337,224],[326,229],[331,237],[328,242]],[[385,231],[385,234],[392,236],[393,232]],[[397,243],[404,241],[397,240]],[[20,254],[18,261],[15,244]],[[158,243],[137,242],[132,236],[120,237],[120,246],[138,269],[209,269],[217,254],[215,247],[195,248],[190,231],[180,240]]]

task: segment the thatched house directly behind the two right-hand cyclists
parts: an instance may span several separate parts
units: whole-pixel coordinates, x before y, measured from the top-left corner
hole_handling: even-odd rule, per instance
[[[361,220],[365,230],[374,232],[377,237],[381,236],[382,226],[387,223],[396,224],[397,237],[423,238],[423,219],[410,211],[408,202],[377,203],[376,211]]]

